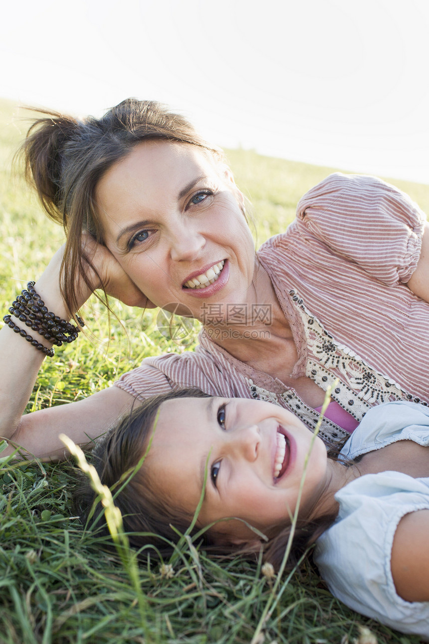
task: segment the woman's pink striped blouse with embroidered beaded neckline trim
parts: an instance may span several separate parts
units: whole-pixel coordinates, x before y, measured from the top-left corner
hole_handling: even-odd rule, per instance
[[[372,176],[328,176],[300,200],[297,219],[258,252],[307,375],[360,421],[384,401],[429,403],[429,304],[406,282],[426,217],[406,194]],[[241,363],[208,337],[195,352],[145,359],[116,386],[139,399],[193,386],[211,395],[268,400],[314,428],[319,414],[293,388]],[[327,444],[349,435],[324,419]]]

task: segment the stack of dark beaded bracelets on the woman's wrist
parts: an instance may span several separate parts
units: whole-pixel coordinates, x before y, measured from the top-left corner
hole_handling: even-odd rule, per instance
[[[27,289],[21,291],[21,295],[17,296],[9,308],[9,314],[3,317],[3,320],[12,328],[15,333],[19,333],[24,337],[27,342],[30,342],[37,350],[42,351],[45,355],[52,357],[55,355],[53,348],[48,349],[36,339],[33,339],[26,330],[20,328],[11,319],[11,315],[17,317],[23,322],[26,327],[31,327],[33,331],[44,337],[48,342],[56,346],[62,346],[64,342],[71,343],[77,339],[78,334],[82,330],[81,327],[85,326],[81,317],[76,316],[78,327],[72,325],[70,322],[56,316],[55,313],[49,311],[44,305],[41,296],[37,294],[33,288],[35,282],[30,281],[27,284]]]

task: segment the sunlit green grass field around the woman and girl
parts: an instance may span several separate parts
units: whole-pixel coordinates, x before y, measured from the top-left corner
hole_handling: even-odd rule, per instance
[[[15,113],[14,104],[0,102],[4,312],[62,241],[59,227],[10,176],[10,160],[26,130]],[[283,231],[298,198],[331,171],[249,151],[230,151],[228,158],[237,184],[253,202],[259,242]],[[429,212],[429,186],[394,183]],[[82,399],[145,356],[188,348],[163,337],[151,312],[142,315],[119,304],[114,309],[128,337],[115,319],[109,330],[105,311],[95,301],[86,318],[97,341],[80,336],[44,362],[28,411]],[[253,640],[267,602],[275,599],[274,580],[261,574],[260,562],[210,559],[185,540],[172,570],[161,572],[148,549],[133,578],[132,562],[109,551],[71,515],[74,476],[67,464],[0,461],[0,644]],[[281,593],[280,600],[262,624],[260,643],[352,643],[359,625],[369,626],[379,643],[419,641],[343,607],[309,564],[300,574],[284,576],[275,593]]]

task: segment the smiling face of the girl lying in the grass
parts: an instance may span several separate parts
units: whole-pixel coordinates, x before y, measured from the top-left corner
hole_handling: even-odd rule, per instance
[[[190,515],[207,470],[200,526],[232,516],[264,532],[289,522],[307,456],[302,512],[329,482],[325,446],[316,438],[311,448],[312,439],[297,417],[271,403],[176,399],[161,405],[147,464],[165,499]],[[255,540],[242,521],[220,522],[215,531],[232,542]]]

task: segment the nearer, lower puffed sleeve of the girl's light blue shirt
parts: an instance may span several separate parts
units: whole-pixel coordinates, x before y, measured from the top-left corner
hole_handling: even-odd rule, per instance
[[[335,495],[336,523],[316,542],[315,563],[329,590],[354,611],[401,630],[429,636],[429,602],[396,592],[390,557],[397,525],[429,508],[428,479],[388,471],[368,474]]]

